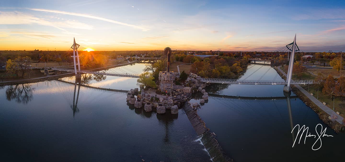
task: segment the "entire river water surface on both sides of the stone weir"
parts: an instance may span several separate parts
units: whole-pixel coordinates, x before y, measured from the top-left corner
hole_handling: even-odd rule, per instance
[[[145,64],[109,69],[142,73]],[[251,64],[241,79],[282,80],[267,65]],[[129,70],[128,70],[129,69]],[[256,73],[252,74],[254,71]],[[250,75],[252,74],[252,75]],[[249,77],[248,77],[249,76]],[[83,75],[82,84],[130,90],[137,78]],[[183,109],[178,115],[143,112],[126,94],[75,85],[74,77],[0,87],[0,142],[3,161],[210,161]],[[210,94],[282,97],[281,85],[214,84]],[[199,102],[200,95],[191,99]],[[291,96],[294,96],[292,93]],[[335,134],[300,99],[224,99],[209,97],[198,114],[219,144],[236,161],[338,161],[344,133]],[[291,118],[290,118],[291,116]],[[322,147],[316,141],[292,148],[292,125],[322,124]],[[302,140],[303,141],[303,140]],[[301,143],[302,143],[301,141]]]

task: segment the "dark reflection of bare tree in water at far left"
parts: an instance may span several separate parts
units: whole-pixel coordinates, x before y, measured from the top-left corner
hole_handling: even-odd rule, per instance
[[[2,89],[2,88],[1,88]],[[28,104],[32,99],[34,88],[30,84],[10,85],[6,89],[6,99],[18,103]]]

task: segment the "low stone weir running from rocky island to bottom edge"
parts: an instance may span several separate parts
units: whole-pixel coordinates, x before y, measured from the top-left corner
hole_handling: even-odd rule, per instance
[[[226,155],[219,145],[218,141],[216,140],[216,135],[211,133],[210,129],[206,127],[205,122],[198,115],[197,109],[192,109],[188,102],[184,103],[183,108],[195,132],[201,137],[200,140],[204,144],[212,160],[233,162],[234,160]]]

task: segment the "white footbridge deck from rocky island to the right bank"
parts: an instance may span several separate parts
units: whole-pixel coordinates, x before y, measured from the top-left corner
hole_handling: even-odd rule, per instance
[[[201,78],[205,83],[221,84],[252,84],[252,85],[287,85],[286,80],[239,80],[239,79],[219,79],[219,78]],[[314,84],[314,80],[291,80],[290,84]]]

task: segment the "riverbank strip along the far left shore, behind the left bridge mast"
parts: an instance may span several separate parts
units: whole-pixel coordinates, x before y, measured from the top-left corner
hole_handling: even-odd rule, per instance
[[[136,63],[137,60],[128,62],[125,64],[119,64],[119,65],[112,65],[112,66],[106,66],[106,67],[100,67],[100,68],[95,68],[91,70],[106,70],[110,69],[113,67],[119,67],[119,66],[125,66],[125,65],[130,65]],[[69,77],[69,76],[74,76],[74,73],[66,73],[66,74],[59,74],[59,75],[51,75],[51,76],[44,76],[44,77],[39,77],[39,78],[29,78],[29,79],[20,79],[20,80],[9,80],[9,81],[4,81],[0,82],[0,86],[6,86],[6,85],[14,85],[14,84],[28,84],[28,83],[35,83],[35,82],[43,82],[45,80],[55,80],[63,77]]]

